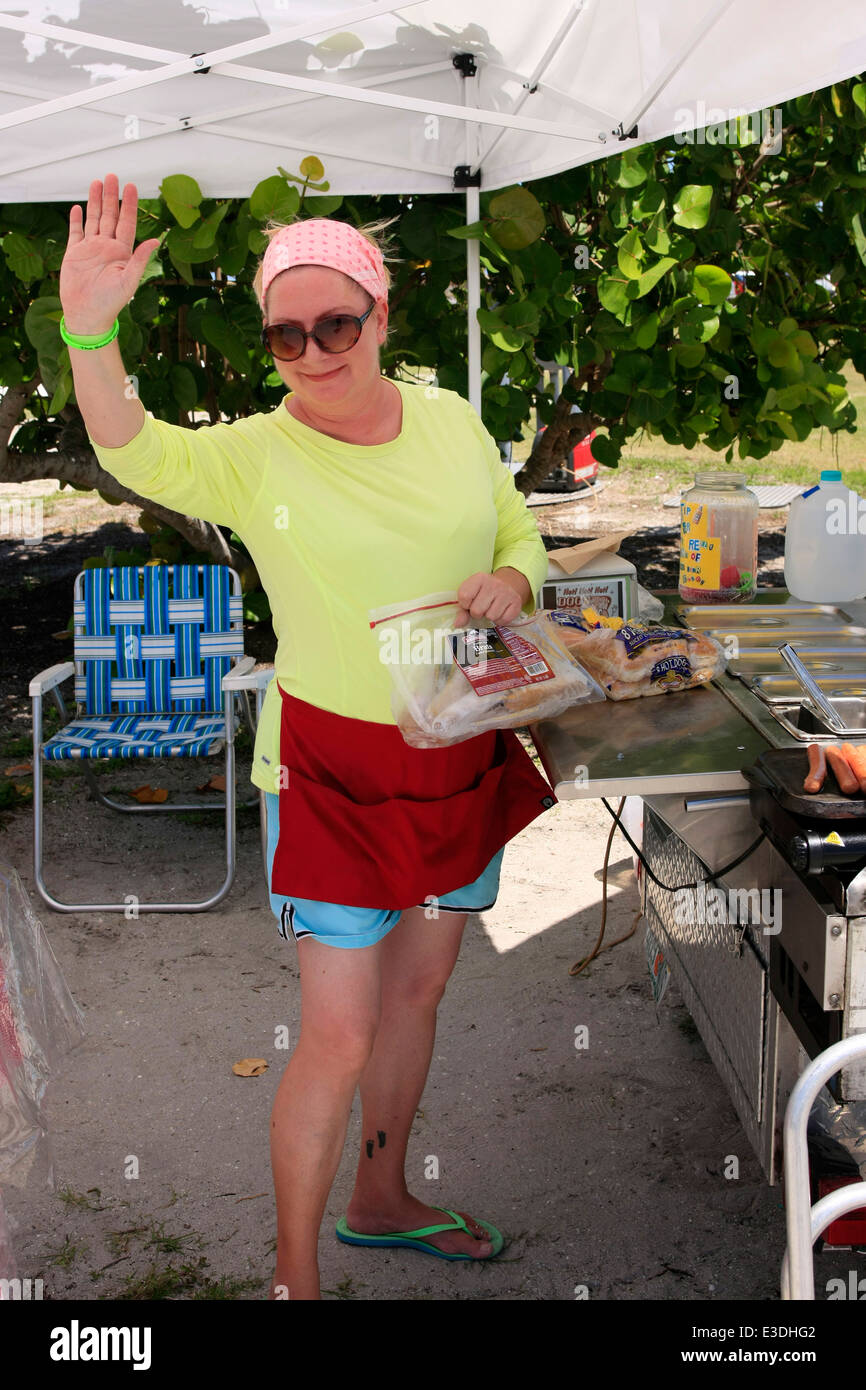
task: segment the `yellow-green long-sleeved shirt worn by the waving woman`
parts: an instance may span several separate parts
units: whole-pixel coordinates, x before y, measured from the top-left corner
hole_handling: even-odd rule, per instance
[[[332,439],[271,411],[188,430],[147,416],[99,463],[139,496],[231,527],[271,605],[277,655],[252,781],[277,791],[289,695],[350,719],[396,723],[370,609],[520,570],[535,596],[548,556],[532,513],[474,407],[456,391],[396,381],[402,430],[386,443]]]

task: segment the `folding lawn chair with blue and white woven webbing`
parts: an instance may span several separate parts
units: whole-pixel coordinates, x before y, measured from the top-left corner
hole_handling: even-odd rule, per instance
[[[33,869],[44,902],[57,912],[204,912],[227,895],[235,877],[235,733],[240,703],[254,737],[272,669],[254,671],[243,655],[243,599],[236,570],[225,564],[114,566],[82,570],[75,578],[72,662],[35,676],[33,699]],[[75,677],[74,716],[60,685]],[[249,691],[256,691],[256,720]],[[63,726],[42,741],[42,698],[51,692]],[[104,795],[93,766],[110,758],[202,758],[225,748],[225,796],[207,802],[124,803]],[[79,760],[103,806],[128,813],[225,810],[225,878],[200,902],[61,902],[42,873],[43,763]],[[264,794],[259,802],[261,855],[267,862]]]

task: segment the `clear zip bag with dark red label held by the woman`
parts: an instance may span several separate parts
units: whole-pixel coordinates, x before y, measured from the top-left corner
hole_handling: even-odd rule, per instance
[[[370,610],[391,709],[413,748],[445,748],[605,699],[544,610],[456,628],[459,606],[452,589]]]

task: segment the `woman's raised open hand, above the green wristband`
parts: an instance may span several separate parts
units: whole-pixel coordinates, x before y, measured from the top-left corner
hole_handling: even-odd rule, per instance
[[[70,210],[70,239],[60,267],[60,302],[71,334],[108,334],[121,309],[135,295],[156,246],[153,236],[135,247],[138,189],[124,188],[118,204],[117,174],[106,185],[95,178],[88,197],[88,221],[81,206]],[[135,249],[133,249],[135,247]]]

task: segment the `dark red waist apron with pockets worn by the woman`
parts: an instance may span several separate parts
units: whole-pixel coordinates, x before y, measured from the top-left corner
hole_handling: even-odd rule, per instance
[[[396,724],[282,696],[279,838],[271,891],[413,908],[463,888],[556,803],[512,728],[411,748]]]

